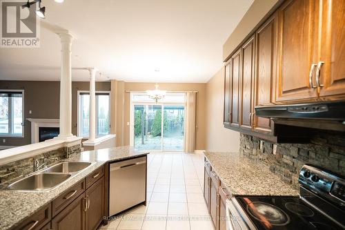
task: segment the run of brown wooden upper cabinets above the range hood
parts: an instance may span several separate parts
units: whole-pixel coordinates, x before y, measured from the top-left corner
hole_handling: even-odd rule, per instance
[[[344,12],[345,0],[277,6],[228,59],[224,126],[275,141],[255,106],[345,99]]]

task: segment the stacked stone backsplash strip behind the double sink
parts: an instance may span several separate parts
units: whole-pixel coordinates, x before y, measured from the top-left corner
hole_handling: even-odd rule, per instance
[[[14,178],[18,178],[21,175],[32,173],[34,171],[34,160],[47,158],[47,163],[51,164],[55,161],[53,159],[54,157],[62,160],[73,157],[75,154],[80,153],[80,151],[81,144],[76,144],[74,146],[58,148],[47,153],[41,153],[23,160],[3,164],[0,166],[0,184],[6,183]]]

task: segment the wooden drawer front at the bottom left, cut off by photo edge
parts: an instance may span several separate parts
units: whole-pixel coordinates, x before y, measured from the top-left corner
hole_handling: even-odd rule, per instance
[[[29,218],[24,220],[21,224],[19,224],[18,227],[14,227],[12,229],[18,229],[18,230],[39,230],[42,227],[45,227],[45,225],[50,222],[50,219],[52,218],[51,215],[51,204],[48,204],[46,207],[43,207],[33,215],[31,215]],[[50,227],[50,225],[49,225]],[[44,229],[44,228],[43,228]]]

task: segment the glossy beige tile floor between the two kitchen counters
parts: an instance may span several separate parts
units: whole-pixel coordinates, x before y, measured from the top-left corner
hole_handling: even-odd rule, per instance
[[[203,197],[204,155],[150,153],[148,205],[100,229],[214,230]]]

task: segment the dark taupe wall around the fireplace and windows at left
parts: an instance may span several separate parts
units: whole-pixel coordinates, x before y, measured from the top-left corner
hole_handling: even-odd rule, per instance
[[[0,89],[24,90],[24,118],[59,118],[60,82],[0,81]],[[89,82],[72,82],[72,133],[77,135],[77,91]],[[96,90],[110,91],[110,82],[97,82]],[[32,114],[29,114],[32,111]],[[3,139],[6,143],[3,143]],[[25,121],[24,137],[0,137],[0,145],[31,144],[31,124]]]

